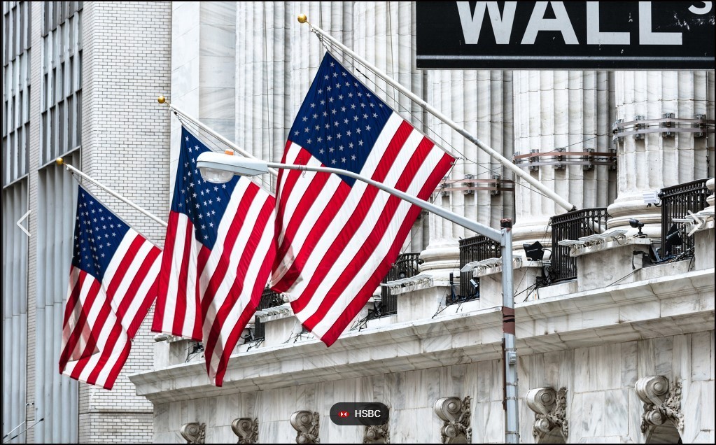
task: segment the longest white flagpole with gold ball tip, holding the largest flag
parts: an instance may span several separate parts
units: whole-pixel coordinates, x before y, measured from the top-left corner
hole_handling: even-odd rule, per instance
[[[368,62],[366,59],[364,59],[364,58],[360,57],[358,54],[354,53],[351,49],[346,47],[344,44],[342,44],[341,42],[334,39],[334,37],[327,34],[326,31],[324,31],[323,29],[320,29],[319,27],[311,24],[308,21],[308,19],[306,18],[305,14],[299,15],[299,22],[309,24],[309,26],[311,26],[311,29],[314,32],[316,32],[316,34],[320,34],[321,36],[323,36],[326,39],[328,39],[329,41],[331,41],[332,44],[339,47],[343,52],[346,52],[351,57],[356,59],[358,62],[363,64],[365,67],[367,67],[367,69],[370,69],[375,75],[377,75],[377,77],[380,77],[385,82],[392,85],[392,87],[395,87],[396,89],[398,89],[398,91],[402,92],[402,94],[405,94],[413,102],[415,102],[416,104],[420,105],[420,107],[425,109],[425,111],[427,111],[430,114],[432,114],[433,116],[437,117],[437,119],[440,119],[442,122],[445,122],[445,124],[448,124],[450,127],[455,129],[455,131],[460,133],[460,135],[463,135],[467,140],[469,140],[470,142],[473,142],[473,144],[477,145],[478,147],[480,147],[480,149],[487,152],[488,155],[490,155],[493,158],[495,158],[496,160],[498,160],[498,162],[500,162],[500,164],[502,164],[505,168],[507,168],[508,170],[511,170],[518,177],[521,177],[523,180],[528,182],[532,187],[535,187],[537,190],[539,190],[539,192],[543,193],[548,198],[550,198],[551,200],[556,202],[559,206],[563,207],[567,211],[576,210],[576,208],[577,208],[576,205],[565,200],[563,197],[558,195],[556,192],[553,192],[553,190],[549,190],[541,182],[539,182],[535,178],[531,177],[527,172],[522,170],[517,165],[513,164],[513,162],[511,162],[510,160],[505,158],[503,155],[500,155],[500,153],[496,152],[489,145],[486,145],[485,142],[482,142],[477,137],[470,135],[468,130],[464,129],[463,127],[460,127],[460,125],[457,122],[454,122],[452,119],[445,116],[445,114],[442,114],[441,112],[439,112],[437,109],[435,109],[430,104],[425,102],[425,100],[420,99],[420,97],[417,97],[417,95],[413,94],[410,91],[410,89],[403,87],[401,84],[396,82],[395,79],[392,79],[392,77],[390,77],[387,74],[385,74],[384,72],[382,72],[380,69],[375,67],[373,64]]]

